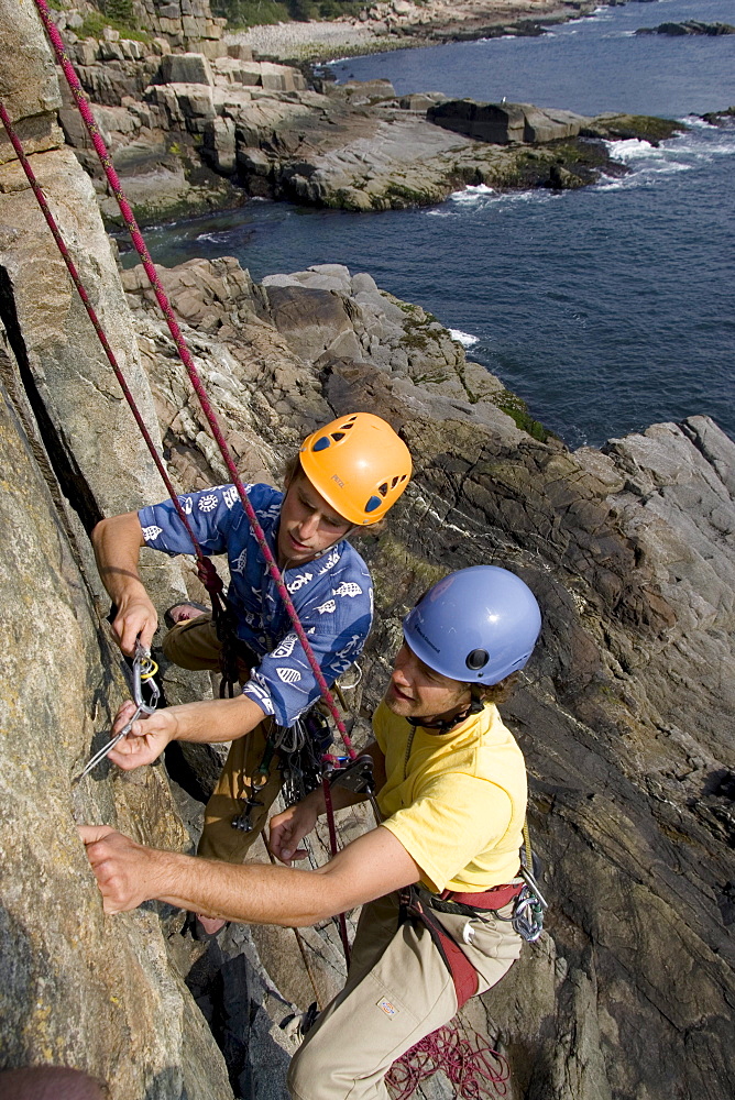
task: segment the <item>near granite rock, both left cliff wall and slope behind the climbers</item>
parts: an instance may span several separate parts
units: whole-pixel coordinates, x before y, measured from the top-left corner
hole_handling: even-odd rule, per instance
[[[140,268],[120,278],[63,144],[29,0],[0,3],[0,44],[3,101],[174,479],[221,482],[152,293]],[[465,1012],[508,1057],[508,1096],[728,1094],[735,444],[699,416],[570,452],[368,273],[321,265],[256,285],[224,257],[161,276],[244,477],[275,481],[308,429],[352,408],[390,419],[415,455],[388,530],[362,541],[379,610],[364,710],[428,581],[494,562],[539,598],[542,644],[505,716],[552,910],[540,944]],[[106,919],[77,839],[76,823],[106,822],[190,847],[211,761],[129,777],[103,766],[73,782],[127,690],[88,534],[163,488],[4,142],[0,321],[0,1067],[75,1066],[112,1100],[281,1098],[288,1041],[271,1022],[312,999],[292,933],[234,930],[224,957],[197,957],[165,906]],[[162,608],[196,591],[176,561],[144,569]],[[174,669],[163,685],[169,702],[209,690]],[[348,836],[358,827],[350,818]],[[338,956],[318,930],[305,938],[329,993]]]

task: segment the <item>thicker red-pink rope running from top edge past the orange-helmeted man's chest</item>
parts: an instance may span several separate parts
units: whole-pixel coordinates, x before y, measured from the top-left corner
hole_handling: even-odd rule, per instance
[[[273,553],[271,552],[271,548],[268,547],[268,544],[266,542],[265,534],[263,531],[263,528],[261,527],[261,525],[260,525],[260,522],[257,520],[257,516],[255,515],[255,510],[253,509],[253,506],[250,503],[250,499],[248,498],[248,494],[245,493],[244,486],[243,486],[243,484],[242,484],[242,482],[240,480],[237,466],[235,466],[235,464],[234,464],[234,462],[232,460],[232,455],[230,454],[230,450],[229,450],[228,444],[227,444],[227,442],[224,440],[224,436],[222,435],[222,431],[221,431],[221,428],[220,428],[219,422],[217,420],[217,416],[215,414],[215,410],[212,409],[212,406],[211,406],[211,404],[209,402],[209,397],[207,396],[207,393],[206,393],[206,391],[205,391],[205,388],[204,388],[204,386],[201,384],[201,380],[199,378],[199,374],[198,374],[197,369],[196,369],[196,366],[194,364],[194,360],[191,359],[191,354],[189,352],[189,349],[188,349],[188,346],[186,344],[186,341],[184,339],[184,336],[183,336],[183,333],[182,333],[182,331],[180,331],[180,329],[178,327],[178,322],[177,322],[177,320],[176,320],[176,318],[174,316],[174,312],[173,312],[173,310],[171,308],[168,298],[166,297],[166,293],[165,293],[165,290],[164,290],[164,288],[163,288],[163,286],[161,284],[161,280],[158,278],[156,270],[155,270],[155,267],[153,265],[153,262],[151,260],[151,256],[149,254],[147,248],[145,246],[145,241],[143,240],[143,237],[141,235],[141,231],[140,231],[140,229],[138,227],[138,222],[135,221],[135,216],[133,215],[133,211],[132,211],[132,209],[130,207],[130,204],[128,202],[128,199],[125,198],[125,196],[124,196],[124,194],[122,191],[120,179],[119,179],[118,174],[114,170],[114,166],[112,164],[112,158],[110,157],[110,154],[109,154],[109,152],[107,150],[107,146],[106,146],[103,140],[102,140],[102,136],[101,136],[101,134],[99,132],[97,123],[95,122],[95,117],[94,117],[94,114],[91,112],[91,108],[90,108],[89,102],[88,102],[88,100],[87,100],[87,98],[85,96],[85,92],[84,92],[84,90],[81,88],[81,85],[79,84],[79,78],[77,77],[77,74],[76,74],[76,72],[74,69],[74,66],[72,65],[72,62],[69,61],[68,54],[66,53],[66,47],[64,46],[64,42],[62,41],[62,36],[58,33],[58,30],[56,29],[56,26],[54,25],[54,22],[53,22],[53,20],[51,18],[51,13],[48,11],[48,7],[46,6],[45,0],[34,0],[34,3],[35,3],[35,7],[36,7],[36,9],[39,11],[39,15],[41,18],[41,21],[43,22],[43,25],[44,25],[44,28],[46,30],[46,34],[48,35],[51,44],[52,44],[52,46],[54,48],[54,53],[56,54],[56,59],[57,59],[58,64],[61,65],[61,67],[64,70],[64,75],[65,75],[65,77],[66,77],[66,79],[68,81],[69,88],[72,90],[72,95],[74,96],[76,105],[77,105],[77,107],[79,109],[79,113],[81,114],[84,123],[85,123],[85,125],[87,128],[87,131],[89,133],[89,136],[91,139],[92,145],[95,146],[95,151],[96,151],[96,153],[97,153],[97,155],[99,157],[100,164],[102,165],[102,168],[105,170],[105,175],[107,177],[108,184],[110,185],[110,189],[111,189],[112,194],[114,195],[114,197],[116,197],[116,199],[118,201],[118,206],[120,207],[120,213],[122,215],[122,219],[123,219],[123,221],[125,223],[125,228],[128,229],[128,232],[130,233],[130,237],[131,237],[131,240],[132,240],[133,245],[135,248],[135,251],[138,252],[139,256],[141,257],[141,261],[143,263],[143,267],[145,270],[145,274],[147,275],[147,277],[149,277],[149,279],[151,282],[151,286],[153,287],[153,292],[155,294],[156,300],[157,300],[158,305],[161,306],[161,309],[162,309],[162,311],[164,314],[164,317],[166,318],[166,322],[168,324],[168,329],[169,329],[171,334],[172,334],[172,337],[174,339],[174,343],[176,344],[176,349],[178,351],[178,354],[182,358],[182,362],[184,363],[184,366],[186,367],[186,372],[187,372],[187,374],[189,376],[189,381],[191,382],[194,391],[195,391],[197,397],[199,398],[199,404],[201,406],[201,410],[205,414],[205,417],[207,418],[207,421],[209,424],[211,433],[212,433],[212,436],[213,436],[213,438],[215,438],[215,440],[216,440],[216,442],[217,442],[217,444],[218,444],[218,447],[220,449],[220,453],[222,455],[222,459],[223,459],[223,461],[224,461],[224,463],[226,463],[226,465],[227,465],[227,468],[228,468],[228,470],[230,472],[230,476],[232,477],[232,483],[234,484],[234,486],[235,486],[235,488],[238,491],[238,495],[239,495],[240,501],[242,503],[242,506],[244,508],[245,515],[248,516],[248,519],[250,520],[251,527],[253,529],[253,534],[254,534],[255,539],[257,540],[257,543],[259,543],[259,546],[261,548],[261,551],[263,553],[263,558],[265,559],[265,563],[267,565],[268,572],[270,572],[271,576],[273,578],[273,580],[275,581],[276,587],[278,588],[281,597],[282,597],[282,600],[284,602],[284,606],[286,607],[286,610],[288,613],[288,617],[292,620],[292,624],[293,624],[294,630],[296,632],[296,636],[297,636],[298,640],[300,641],[300,644],[301,644],[301,646],[304,648],[304,652],[306,654],[306,658],[307,658],[307,660],[309,662],[309,666],[311,667],[311,671],[314,672],[315,680],[317,681],[317,683],[319,685],[319,690],[321,692],[321,695],[322,695],[322,697],[323,697],[327,706],[329,707],[329,711],[330,711],[330,713],[331,713],[331,715],[332,715],[332,717],[334,719],[334,724],[337,725],[337,728],[340,732],[340,735],[341,735],[342,740],[344,743],[344,747],[347,749],[347,752],[348,752],[350,759],[353,760],[356,757],[356,752],[355,752],[355,750],[354,750],[354,748],[352,746],[352,743],[351,743],[350,737],[348,735],[348,732],[345,729],[344,723],[342,722],[341,715],[340,715],[339,711],[337,710],[337,704],[334,703],[334,700],[333,700],[332,694],[331,694],[331,692],[329,690],[327,681],[325,680],[323,673],[322,673],[321,669],[319,668],[317,659],[316,659],[316,657],[314,654],[314,650],[311,649],[311,646],[309,645],[309,640],[306,637],[306,632],[304,630],[304,627],[301,626],[301,624],[299,622],[298,615],[296,613],[296,608],[294,607],[293,601],[290,598],[290,595],[288,594],[288,591],[287,591],[286,585],[284,583],[283,576],[281,575],[281,571],[279,571],[279,569],[278,569],[278,566],[276,564],[276,561],[275,561],[275,559],[273,557]]]

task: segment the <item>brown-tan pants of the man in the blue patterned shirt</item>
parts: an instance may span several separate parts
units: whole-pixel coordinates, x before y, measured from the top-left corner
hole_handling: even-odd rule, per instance
[[[219,671],[222,646],[209,614],[177,623],[163,639],[162,648],[169,661],[184,669]],[[248,664],[238,660],[238,670],[240,682],[244,683],[250,676]],[[264,785],[261,785],[264,777],[257,771],[271,724],[271,718],[264,718],[244,737],[232,741],[222,773],[205,810],[205,828],[197,849],[199,856],[222,859],[228,864],[242,864],[263,832],[268,810],[281,790],[277,758],[271,761]],[[243,833],[242,829],[232,828],[232,821],[243,813],[244,804],[241,800],[251,794],[253,784],[257,789],[256,798],[261,805],[250,814],[252,829]]]

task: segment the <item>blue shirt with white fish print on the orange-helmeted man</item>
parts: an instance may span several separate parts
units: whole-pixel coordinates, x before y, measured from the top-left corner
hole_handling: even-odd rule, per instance
[[[248,485],[246,492],[275,557],[283,493],[270,485]],[[238,636],[260,658],[243,694],[279,725],[290,726],[318,697],[319,686],[238,491],[233,485],[218,485],[182,495],[179,501],[202,551],[228,556],[228,600],[238,616]],[[142,508],[138,516],[146,546],[171,556],[194,552],[171,501]],[[331,683],[360,656],[372,624],[368,566],[342,540],[314,561],[287,570],[284,580],[325,679]]]

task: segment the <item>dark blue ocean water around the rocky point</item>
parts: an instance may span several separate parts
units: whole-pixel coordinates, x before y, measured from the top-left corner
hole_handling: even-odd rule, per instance
[[[735,22],[735,0],[630,3],[540,38],[333,66],[338,79],[386,76],[398,92],[685,119],[658,148],[615,143],[623,178],[560,195],[470,187],[382,215],[253,201],[149,231],[153,257],[235,255],[255,279],[318,263],[370,272],[436,314],[570,447],[698,413],[735,438],[735,127],[693,117],[735,105],[735,35],[633,33],[680,19]]]

